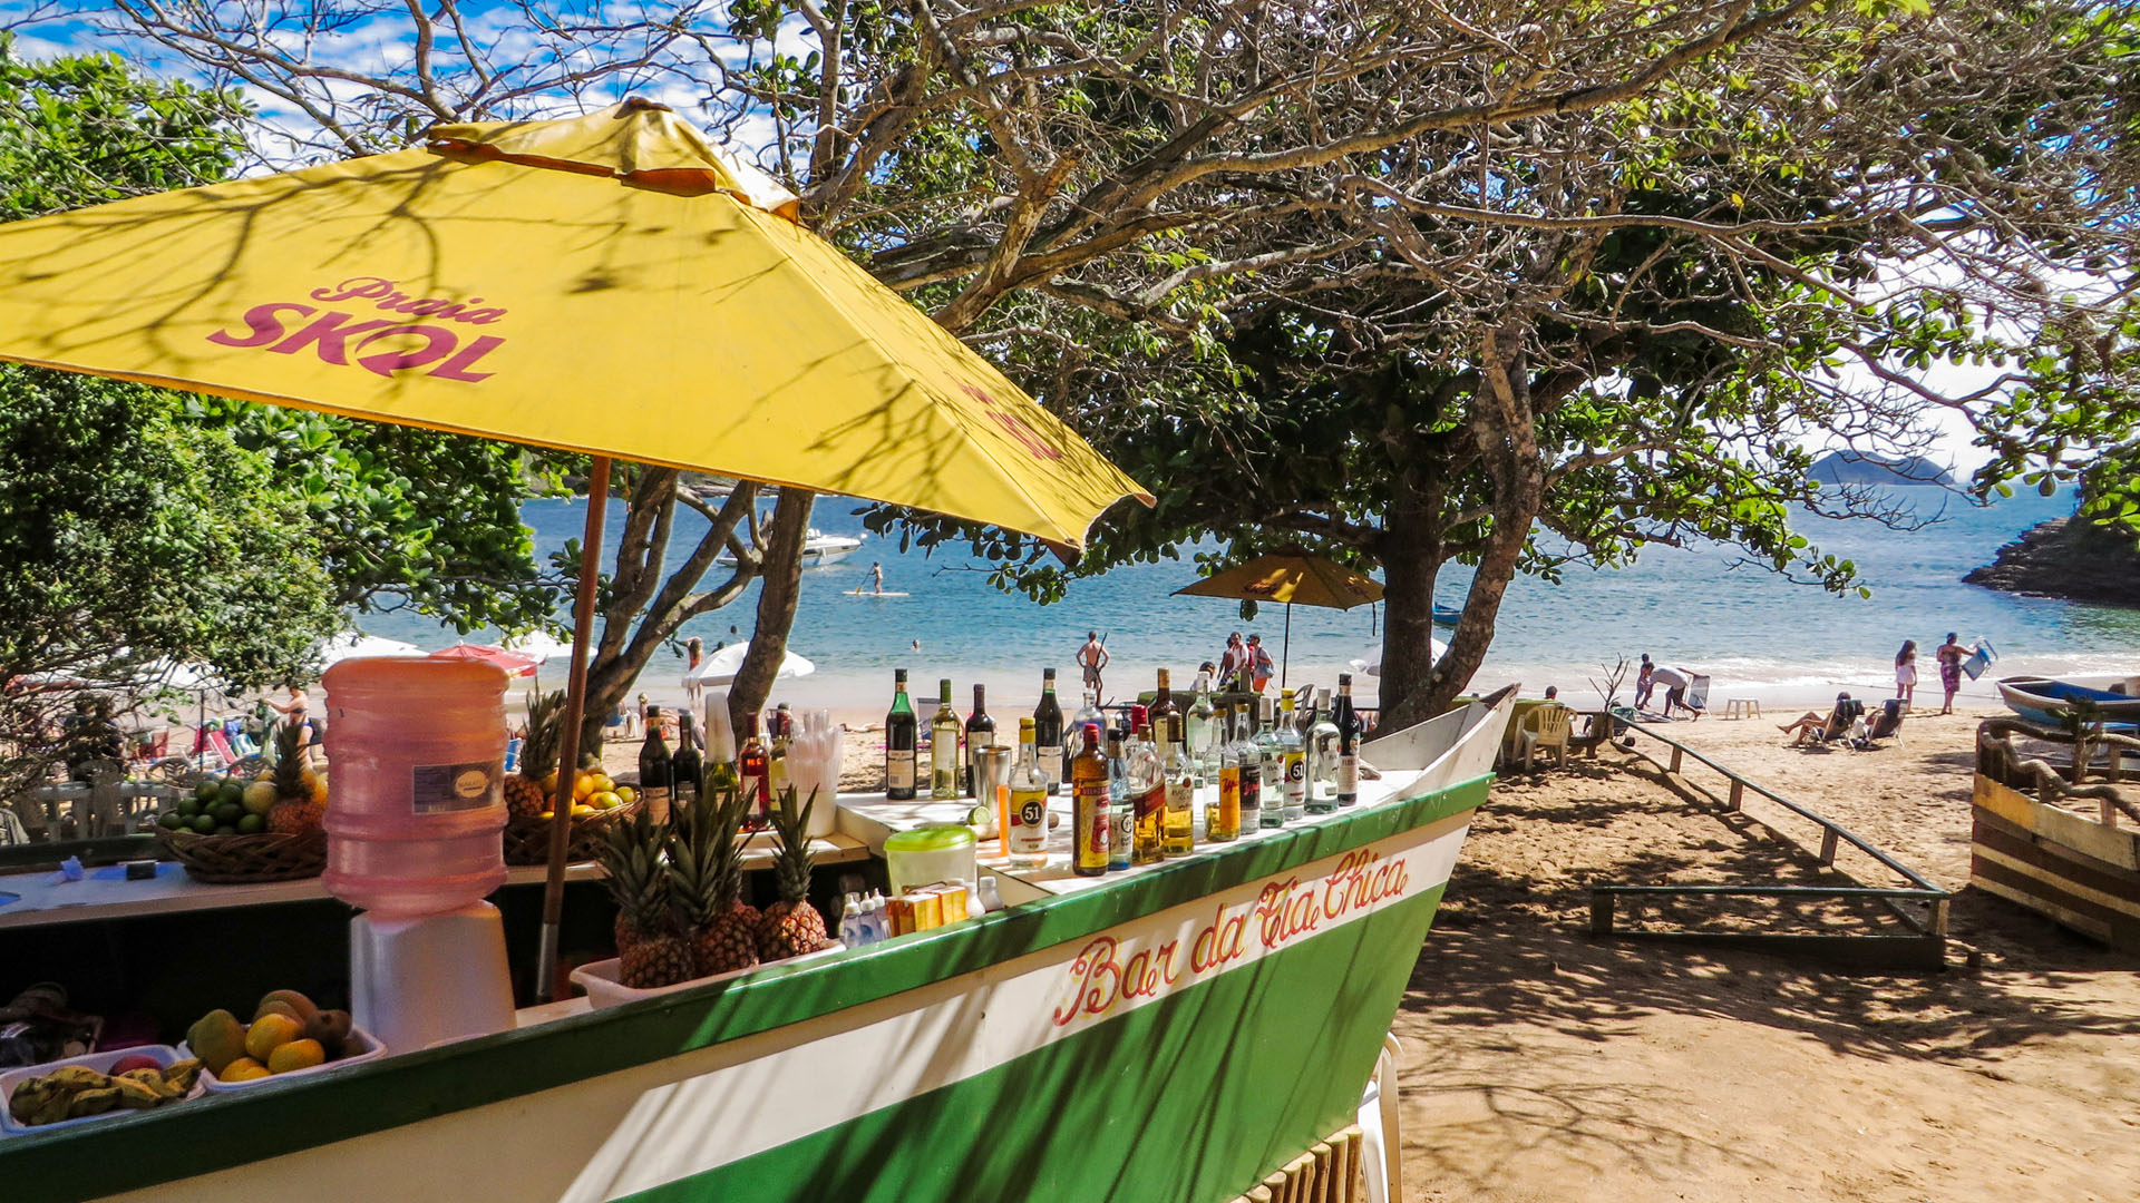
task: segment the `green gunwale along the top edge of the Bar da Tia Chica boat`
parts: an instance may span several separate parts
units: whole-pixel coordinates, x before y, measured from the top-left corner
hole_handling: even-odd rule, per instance
[[[1466,728],[1457,743],[1470,734]],[[1432,766],[1427,773],[1432,777]],[[1168,863],[1119,886],[1038,899],[805,965],[768,965],[304,1083],[270,1083],[107,1124],[11,1137],[0,1141],[0,1177],[34,1184],[34,1199],[98,1199],[631,1070],[972,974],[1442,822],[1477,809],[1489,781],[1492,773],[1444,781],[1408,798]],[[261,1141],[261,1130],[276,1137]],[[141,1156],[150,1147],[143,1141],[152,1141],[154,1158]],[[58,1190],[49,1190],[54,1186]]]

